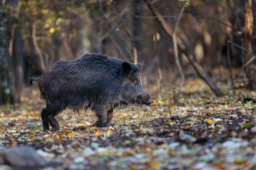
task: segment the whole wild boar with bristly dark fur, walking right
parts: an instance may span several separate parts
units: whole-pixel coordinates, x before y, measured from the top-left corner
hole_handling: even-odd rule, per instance
[[[50,71],[38,78],[43,128],[59,130],[54,118],[65,108],[76,113],[92,110],[99,120],[93,126],[106,127],[116,107],[133,104],[150,105],[153,101],[140,83],[142,64],[128,63],[107,55],[85,54],[74,61],[57,61]]]

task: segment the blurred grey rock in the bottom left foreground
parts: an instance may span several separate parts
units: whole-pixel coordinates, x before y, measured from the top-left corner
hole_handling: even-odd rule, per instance
[[[14,167],[45,167],[48,163],[29,146],[0,150],[0,164]]]

